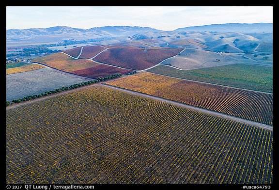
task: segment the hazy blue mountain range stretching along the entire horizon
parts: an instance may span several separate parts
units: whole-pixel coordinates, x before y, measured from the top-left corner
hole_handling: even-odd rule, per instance
[[[272,23],[255,23],[255,24],[212,24],[204,26],[193,26],[176,29],[166,32],[272,32]],[[150,27],[139,26],[104,26],[93,27],[90,29],[78,29],[68,26],[55,26],[49,28],[31,28],[31,29],[9,29],[6,30],[6,41],[26,40],[38,37],[51,36],[57,39],[75,39],[75,38],[99,38],[99,37],[128,37],[143,36],[147,33],[165,32]]]

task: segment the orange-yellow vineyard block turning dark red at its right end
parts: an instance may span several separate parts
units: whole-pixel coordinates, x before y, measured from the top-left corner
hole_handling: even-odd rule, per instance
[[[99,64],[88,59],[73,59],[61,52],[33,59],[32,62],[43,63],[65,72],[93,79],[116,73],[124,74],[130,71],[128,69]]]

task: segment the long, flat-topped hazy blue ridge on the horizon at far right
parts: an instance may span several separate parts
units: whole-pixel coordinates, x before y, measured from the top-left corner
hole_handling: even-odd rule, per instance
[[[190,26],[179,28],[174,31],[197,31],[197,32],[273,32],[273,23],[227,23],[211,24],[203,26]]]

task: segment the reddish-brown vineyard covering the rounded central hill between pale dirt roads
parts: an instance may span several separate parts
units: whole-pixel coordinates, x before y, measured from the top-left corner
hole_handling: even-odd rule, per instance
[[[93,60],[124,67],[127,69],[143,70],[177,55],[183,48],[109,48]]]

